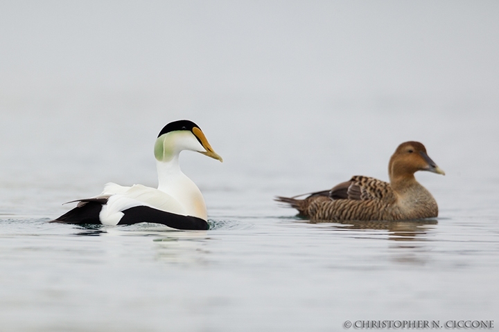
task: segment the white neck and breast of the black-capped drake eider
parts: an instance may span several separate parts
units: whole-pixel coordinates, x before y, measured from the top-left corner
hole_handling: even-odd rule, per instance
[[[156,165],[158,190],[177,200],[184,207],[186,215],[207,220],[203,196],[198,186],[180,170],[179,155],[175,154],[168,161],[157,160]]]

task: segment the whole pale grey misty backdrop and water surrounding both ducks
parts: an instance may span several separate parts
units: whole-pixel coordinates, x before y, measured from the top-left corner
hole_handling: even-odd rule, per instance
[[[498,17],[497,1],[0,1],[3,327],[494,319]],[[172,248],[45,223],[109,181],[155,186],[152,145],[181,118],[225,160],[182,153],[218,228]],[[407,140],[446,171],[417,174],[440,214],[407,246],[272,201],[387,180]]]

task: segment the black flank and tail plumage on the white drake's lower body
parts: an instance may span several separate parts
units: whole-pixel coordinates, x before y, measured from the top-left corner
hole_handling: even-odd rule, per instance
[[[100,225],[100,212],[107,203],[106,198],[84,199],[76,208],[69,210],[53,220],[58,223],[93,224]],[[123,216],[118,225],[132,225],[134,223],[159,223],[177,230],[208,230],[207,221],[195,216],[183,216],[171,212],[157,210],[147,205],[137,205],[122,210]]]

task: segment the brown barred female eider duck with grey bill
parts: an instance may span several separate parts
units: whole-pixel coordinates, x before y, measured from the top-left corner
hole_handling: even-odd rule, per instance
[[[313,192],[306,199],[278,196],[301,216],[315,221],[375,221],[421,219],[438,216],[437,202],[414,178],[417,171],[445,175],[426,154],[420,142],[405,142],[388,164],[389,183],[367,176],[353,176],[331,190]]]

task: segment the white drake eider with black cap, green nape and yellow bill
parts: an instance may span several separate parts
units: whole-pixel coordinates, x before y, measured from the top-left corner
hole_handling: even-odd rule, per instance
[[[123,187],[107,183],[102,194],[78,199],[73,210],[53,222],[130,225],[161,223],[179,230],[207,230],[207,208],[198,187],[180,170],[182,150],[222,161],[200,127],[189,120],[170,122],[155,142],[159,185]],[[72,203],[72,202],[69,202]]]

